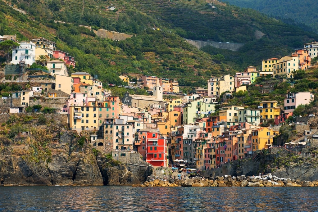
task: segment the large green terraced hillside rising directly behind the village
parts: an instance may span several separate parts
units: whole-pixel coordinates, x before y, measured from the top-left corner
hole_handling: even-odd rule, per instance
[[[116,9],[108,10],[110,5]],[[318,35],[299,27],[217,1],[210,5],[203,0],[12,0],[0,1],[0,6],[0,35],[17,34],[18,41],[37,37],[55,41],[58,49],[75,57],[73,71],[98,74],[103,82],[115,84],[123,84],[117,78],[120,74],[132,78],[148,74],[178,80],[180,85],[206,85],[211,75],[233,74],[318,40]],[[134,36],[101,39],[79,25]],[[205,47],[204,53],[183,38],[245,45],[238,52]],[[224,59],[215,56],[219,54]]]

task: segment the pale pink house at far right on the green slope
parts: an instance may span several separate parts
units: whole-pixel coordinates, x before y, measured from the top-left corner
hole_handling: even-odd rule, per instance
[[[314,100],[315,95],[310,92],[288,93],[284,100],[285,113],[293,112],[300,104],[306,105]]]

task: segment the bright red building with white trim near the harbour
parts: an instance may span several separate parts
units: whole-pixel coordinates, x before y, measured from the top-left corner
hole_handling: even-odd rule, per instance
[[[156,167],[167,167],[167,139],[159,133],[146,133],[146,162]]]

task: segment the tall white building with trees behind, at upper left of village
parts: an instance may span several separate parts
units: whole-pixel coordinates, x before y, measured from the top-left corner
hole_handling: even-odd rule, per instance
[[[35,62],[35,45],[32,42],[22,41],[19,46],[12,49],[12,64],[19,64],[24,61],[25,64],[32,65]]]

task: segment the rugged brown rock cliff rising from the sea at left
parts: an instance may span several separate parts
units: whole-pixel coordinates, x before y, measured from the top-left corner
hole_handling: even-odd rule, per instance
[[[143,175],[144,171],[130,171],[121,163],[110,164],[103,154],[96,159],[91,145],[84,143],[80,147],[77,145],[78,139],[73,131],[58,132],[45,147],[50,156],[38,162],[30,158],[34,159],[45,151],[41,147],[33,151],[34,143],[1,149],[0,185],[101,186],[141,183],[135,174]]]

